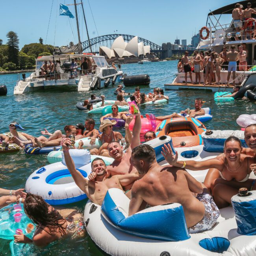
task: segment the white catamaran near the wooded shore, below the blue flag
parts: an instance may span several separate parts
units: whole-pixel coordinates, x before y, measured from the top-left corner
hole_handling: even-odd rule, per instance
[[[76,71],[70,69],[71,59],[82,62],[87,58],[91,62],[91,70]],[[60,72],[52,74],[43,74],[41,67],[47,61],[60,61]],[[35,60],[35,72],[28,78],[23,77],[17,81],[14,88],[14,94],[30,93],[39,89],[48,89],[52,87],[72,87],[78,85],[78,91],[89,91],[93,89],[101,89],[107,87],[109,83],[118,83],[121,81],[123,72],[108,66],[104,56],[96,56],[93,54],[60,54],[38,57]],[[85,71],[85,72],[83,72]]]

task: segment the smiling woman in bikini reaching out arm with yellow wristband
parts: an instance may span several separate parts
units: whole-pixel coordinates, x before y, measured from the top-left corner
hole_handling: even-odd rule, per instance
[[[252,156],[241,154],[241,141],[230,136],[224,143],[224,154],[205,161],[177,161],[178,154],[175,156],[171,152],[171,147],[163,149],[163,156],[167,162],[176,167],[185,167],[186,169],[198,171],[208,168],[215,168],[218,172],[218,177],[211,177],[213,186],[211,189],[214,201],[219,208],[224,208],[231,204],[231,197],[238,193],[240,187],[252,187],[252,179],[249,179],[252,172],[252,164],[255,159]],[[256,167],[255,167],[256,169]],[[210,171],[210,170],[209,170]],[[216,172],[215,172],[216,173]]]

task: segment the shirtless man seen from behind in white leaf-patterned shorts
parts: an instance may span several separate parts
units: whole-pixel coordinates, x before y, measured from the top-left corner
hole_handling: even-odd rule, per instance
[[[144,176],[134,182],[129,205],[129,216],[145,208],[146,204],[180,203],[189,228],[189,233],[198,233],[212,228],[219,217],[207,189],[182,168],[161,166],[149,145],[140,145],[132,150],[132,162],[139,174]],[[192,193],[198,193],[195,197]]]

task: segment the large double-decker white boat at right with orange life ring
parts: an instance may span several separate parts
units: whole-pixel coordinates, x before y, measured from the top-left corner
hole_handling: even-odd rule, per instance
[[[248,1],[241,1],[239,2],[243,6],[246,7]],[[256,1],[251,1],[252,8],[256,9]],[[233,77],[232,73],[230,76],[229,84],[226,84],[228,71],[222,69],[221,70],[221,85],[217,85],[217,83],[213,83],[213,85],[202,85],[202,84],[193,84],[190,81],[189,74],[187,74],[187,84],[185,84],[185,73],[184,72],[178,72],[176,75],[174,81],[172,83],[165,84],[165,89],[209,89],[211,91],[232,91],[232,81],[235,80],[235,83],[242,86],[246,86],[249,84],[255,84],[256,85],[256,72],[254,65],[256,65],[256,40],[249,38],[249,33],[252,33],[254,30],[250,31],[249,28],[247,28],[246,22],[243,22],[243,30],[240,32],[236,31],[236,28],[234,27],[234,20],[232,20],[232,11],[235,7],[234,4],[230,4],[228,6],[221,7],[215,11],[210,11],[208,14],[207,22],[206,24],[209,24],[208,27],[203,27],[200,30],[200,35],[202,38],[202,41],[199,42],[197,49],[198,52],[200,50],[212,50],[217,53],[221,53],[223,51],[223,46],[225,45],[227,48],[227,51],[230,51],[230,47],[232,45],[236,46],[236,51],[238,51],[238,46],[242,44],[246,44],[246,51],[247,51],[247,67],[245,71],[236,71],[236,77]],[[219,21],[220,17],[216,17],[216,15],[230,15],[230,20],[232,22],[230,24],[221,24]],[[211,22],[212,26],[210,26]],[[254,24],[256,26],[256,22]],[[206,30],[207,35],[206,37],[202,36],[202,30]],[[255,29],[255,27],[254,27]],[[236,38],[239,40],[236,41]],[[193,60],[191,60],[191,63],[193,63]],[[226,67],[227,69],[227,67]],[[237,69],[238,70],[238,69]],[[203,83],[203,70],[200,72],[201,75],[201,83]],[[192,79],[193,82],[195,82],[195,73],[192,72]],[[217,78],[216,78],[217,79]],[[255,89],[256,90],[256,89]]]

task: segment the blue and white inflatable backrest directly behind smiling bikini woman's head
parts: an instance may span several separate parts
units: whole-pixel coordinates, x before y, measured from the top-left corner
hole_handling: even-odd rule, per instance
[[[245,132],[240,130],[213,130],[203,132],[201,136],[204,141],[204,150],[207,152],[223,153],[224,142],[230,136],[236,136],[240,139],[242,147],[248,147],[245,143]]]

